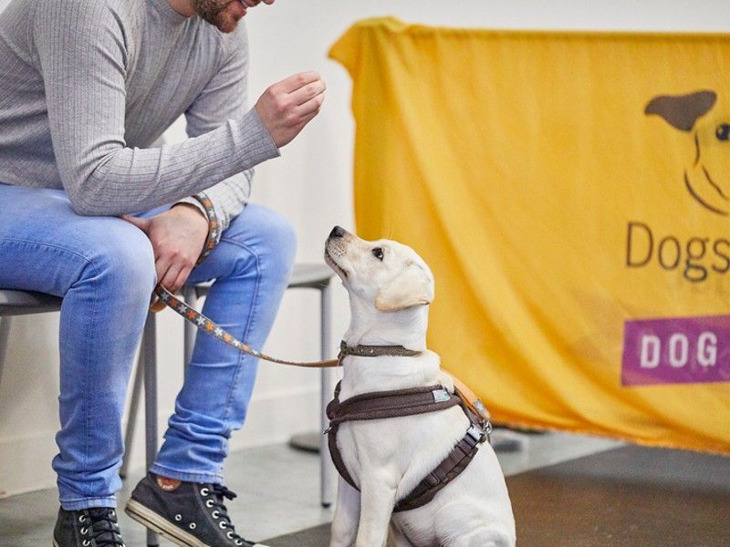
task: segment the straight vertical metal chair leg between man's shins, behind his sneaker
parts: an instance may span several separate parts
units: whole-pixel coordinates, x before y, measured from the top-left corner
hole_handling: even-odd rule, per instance
[[[141,355],[144,360],[144,431],[149,470],[157,457],[157,325],[155,315],[147,315],[142,336]],[[147,545],[156,547],[159,539],[155,532],[147,531]]]

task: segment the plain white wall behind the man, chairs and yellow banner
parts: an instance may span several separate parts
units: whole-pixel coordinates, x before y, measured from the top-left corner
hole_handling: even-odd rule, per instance
[[[8,0],[0,0],[0,10]],[[254,201],[284,213],[297,228],[297,260],[319,262],[322,244],[336,223],[352,227],[350,83],[327,59],[328,47],[356,20],[396,15],[404,21],[442,26],[537,29],[694,30],[726,32],[724,0],[277,0],[247,16],[251,36],[252,102],[271,83],[316,69],[328,83],[325,106],[282,158],[258,168]],[[172,137],[180,137],[180,127]],[[347,326],[343,291],[335,290],[332,348]],[[182,324],[160,316],[160,419],[172,409],[182,377]],[[36,336],[41,334],[41,342]],[[57,428],[57,315],[17,318],[0,382],[0,496],[54,483],[50,459]],[[276,356],[318,357],[316,294],[289,292],[266,350]],[[282,441],[317,428],[318,374],[263,364],[254,402],[234,449]],[[138,429],[138,433],[141,431]],[[141,435],[137,439],[141,440]],[[141,442],[133,464],[142,465]]]

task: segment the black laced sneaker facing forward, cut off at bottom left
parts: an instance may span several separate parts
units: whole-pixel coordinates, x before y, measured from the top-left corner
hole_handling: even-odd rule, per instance
[[[125,547],[117,511],[95,507],[81,511],[58,510],[53,547]]]

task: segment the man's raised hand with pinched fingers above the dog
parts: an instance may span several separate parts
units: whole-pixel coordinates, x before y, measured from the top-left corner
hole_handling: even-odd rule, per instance
[[[256,112],[276,147],[291,142],[317,116],[325,88],[317,72],[301,72],[270,86],[258,98]]]

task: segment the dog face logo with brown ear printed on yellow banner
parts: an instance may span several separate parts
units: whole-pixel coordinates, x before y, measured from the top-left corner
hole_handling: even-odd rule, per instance
[[[705,209],[726,216],[730,213],[730,116],[717,112],[716,102],[717,94],[706,89],[661,95],[649,101],[644,114],[661,116],[694,140],[694,158],[687,159],[684,185]]]

